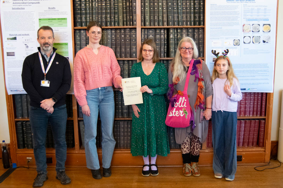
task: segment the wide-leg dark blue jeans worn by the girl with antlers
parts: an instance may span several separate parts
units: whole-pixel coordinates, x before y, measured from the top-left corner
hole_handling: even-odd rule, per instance
[[[212,111],[213,171],[234,179],[237,170],[237,112]]]

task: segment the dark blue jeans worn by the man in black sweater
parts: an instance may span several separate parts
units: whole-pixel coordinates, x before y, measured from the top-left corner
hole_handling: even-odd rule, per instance
[[[67,158],[66,145],[66,123],[67,123],[67,109],[66,105],[54,108],[53,113],[48,113],[42,108],[30,107],[29,120],[31,122],[31,129],[33,131],[33,138],[35,145],[33,146],[33,153],[35,155],[35,163],[37,172],[47,173],[45,140],[48,121],[50,122],[53,138],[55,140],[55,154],[56,154],[56,171],[59,172],[65,169],[65,161]]]

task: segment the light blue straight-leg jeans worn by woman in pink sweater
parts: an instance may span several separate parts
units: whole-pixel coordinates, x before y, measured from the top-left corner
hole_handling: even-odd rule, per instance
[[[87,104],[90,109],[90,117],[83,114],[87,168],[93,170],[100,168],[95,139],[97,135],[98,110],[102,130],[102,167],[109,168],[116,143],[113,136],[115,110],[113,88],[112,86],[99,87],[86,90],[86,93]]]

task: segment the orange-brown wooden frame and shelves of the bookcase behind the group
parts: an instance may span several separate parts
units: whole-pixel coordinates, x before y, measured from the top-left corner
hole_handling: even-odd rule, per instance
[[[71,6],[73,6],[73,0],[71,1]],[[206,5],[205,5],[206,6]],[[71,7],[72,14],[72,28],[75,29],[86,29],[86,27],[74,27],[73,20],[73,8]],[[136,1],[136,26],[104,26],[103,29],[113,29],[113,28],[135,28],[137,35],[137,57],[139,56],[139,49],[141,46],[141,29],[142,28],[205,28],[205,26],[141,26],[141,4],[140,1]],[[204,35],[205,36],[205,35]],[[1,33],[1,38],[2,33]],[[75,54],[74,46],[74,32],[72,32],[73,39],[73,54]],[[3,40],[1,40],[3,46]],[[205,44],[205,38],[204,38]],[[3,54],[3,48],[2,48]],[[204,46],[204,56],[205,56],[205,46]],[[4,56],[2,55],[4,62]],[[74,59],[74,58],[73,58]],[[117,58],[118,60],[138,60],[137,58]],[[160,58],[164,60],[170,60],[172,58]],[[204,59],[203,57],[201,59]],[[3,68],[4,63],[3,63]],[[4,71],[5,72],[5,71]],[[115,91],[119,89],[114,89]],[[6,103],[7,103],[7,112],[8,112],[8,123],[9,123],[9,132],[10,132],[10,154],[12,163],[17,163],[17,165],[27,165],[26,158],[32,157],[33,160],[29,163],[30,166],[35,165],[35,160],[33,156],[33,149],[18,149],[17,147],[17,137],[16,137],[16,121],[26,121],[28,118],[15,118],[14,102],[13,96],[7,94],[6,91]],[[265,119],[265,141],[263,147],[237,147],[237,155],[242,155],[242,162],[238,163],[267,163],[269,162],[270,156],[270,147],[271,147],[271,121],[272,121],[272,104],[273,104],[273,93],[267,93],[267,105],[266,105],[266,116],[240,116],[238,119]],[[72,96],[72,105],[73,105],[73,118],[68,118],[68,120],[74,121],[74,141],[75,146],[73,148],[67,148],[67,161],[66,166],[86,166],[85,162],[85,151],[82,148],[82,143],[80,140],[79,126],[78,121],[83,120],[83,118],[78,118],[78,109],[77,101],[75,96]],[[115,120],[131,120],[132,118],[115,118]],[[200,151],[200,165],[212,165],[213,160],[213,149],[207,148],[203,143],[202,150]],[[46,156],[52,157],[53,162],[48,165],[55,166],[55,149],[47,148]],[[98,157],[101,162],[102,159],[102,150],[98,148]],[[158,156],[157,164],[159,166],[182,166],[182,155],[180,149],[171,149],[170,154],[167,157]],[[112,166],[142,166],[141,157],[133,157],[129,149],[115,148]]]

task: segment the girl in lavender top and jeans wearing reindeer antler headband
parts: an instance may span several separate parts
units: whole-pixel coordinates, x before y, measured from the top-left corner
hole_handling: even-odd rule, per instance
[[[215,178],[232,181],[237,169],[237,101],[242,99],[240,83],[227,53],[216,55],[212,72],[212,143]]]

